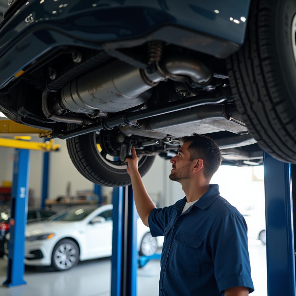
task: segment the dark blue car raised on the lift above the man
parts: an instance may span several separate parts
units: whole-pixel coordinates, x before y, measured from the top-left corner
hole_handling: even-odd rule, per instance
[[[67,140],[80,173],[130,184],[181,136],[224,164],[262,149],[296,163],[296,2],[11,0],[0,25],[0,110]]]

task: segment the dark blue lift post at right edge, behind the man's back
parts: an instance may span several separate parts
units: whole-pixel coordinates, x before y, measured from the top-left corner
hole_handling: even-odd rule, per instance
[[[295,296],[291,164],[263,152],[268,296]]]

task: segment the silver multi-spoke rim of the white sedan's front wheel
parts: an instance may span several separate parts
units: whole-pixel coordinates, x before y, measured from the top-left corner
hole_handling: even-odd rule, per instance
[[[61,244],[54,252],[54,262],[60,269],[71,268],[77,260],[77,251],[73,244]]]

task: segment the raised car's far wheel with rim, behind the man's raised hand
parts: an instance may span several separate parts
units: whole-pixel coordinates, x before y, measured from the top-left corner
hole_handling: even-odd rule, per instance
[[[68,129],[75,128],[70,124]],[[126,186],[131,178],[126,165],[117,160],[120,156],[120,139],[124,137],[119,129],[89,133],[67,139],[70,158],[77,170],[89,181],[103,186]],[[139,156],[139,173],[144,176],[155,156]]]

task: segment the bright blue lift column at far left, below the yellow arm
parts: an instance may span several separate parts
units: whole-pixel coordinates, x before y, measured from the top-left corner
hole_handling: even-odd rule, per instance
[[[28,215],[29,160],[29,150],[15,149],[7,280],[3,283],[7,287],[26,284],[24,281],[24,258],[25,225]]]

